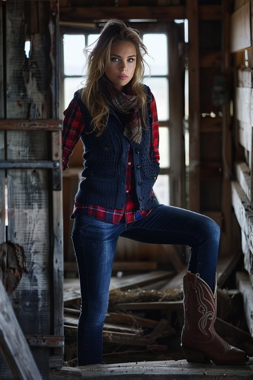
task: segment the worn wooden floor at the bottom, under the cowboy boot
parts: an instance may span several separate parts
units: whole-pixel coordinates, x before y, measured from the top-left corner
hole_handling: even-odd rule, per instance
[[[190,364],[186,360],[133,362],[118,364],[94,364],[83,367],[62,367],[60,371],[51,371],[50,380],[60,379],[100,379],[155,377],[156,380],[241,380],[253,379],[253,357],[247,364],[237,366],[216,366],[215,364]]]

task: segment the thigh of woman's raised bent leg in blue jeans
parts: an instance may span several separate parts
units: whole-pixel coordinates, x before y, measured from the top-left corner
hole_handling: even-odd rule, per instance
[[[146,243],[194,247],[205,240],[215,240],[219,244],[220,227],[205,215],[159,205],[147,217],[130,224],[120,236]]]

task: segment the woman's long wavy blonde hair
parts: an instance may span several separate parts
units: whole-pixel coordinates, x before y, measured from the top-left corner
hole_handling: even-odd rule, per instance
[[[136,68],[129,83],[133,95],[138,96],[137,106],[141,108],[142,120],[147,127],[146,92],[141,84],[144,76],[144,62],[147,64],[143,58],[145,54],[148,55],[147,48],[143,44],[138,30],[127,26],[121,20],[110,19],[103,27],[95,47],[92,50],[89,50],[89,46],[83,49],[87,55],[87,75],[86,86],[81,89],[81,99],[92,116],[92,132],[97,132],[96,136],[103,133],[109,117],[109,108],[99,91],[99,81],[110,64],[111,46],[115,41],[131,42],[136,48]]]

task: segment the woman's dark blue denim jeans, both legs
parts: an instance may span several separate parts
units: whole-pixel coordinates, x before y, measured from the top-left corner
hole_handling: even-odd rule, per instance
[[[145,243],[189,245],[188,270],[199,273],[212,290],[214,287],[220,227],[209,217],[159,205],[141,220],[126,224],[123,218],[117,225],[77,212],[72,241],[81,290],[77,327],[78,365],[102,363],[103,325],[119,236]]]

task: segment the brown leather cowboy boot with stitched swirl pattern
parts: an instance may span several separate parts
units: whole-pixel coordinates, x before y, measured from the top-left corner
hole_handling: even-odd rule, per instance
[[[241,364],[248,360],[242,350],[230,346],[215,331],[217,276],[215,294],[199,277],[187,272],[183,277],[184,320],[181,346],[186,360],[195,363]]]

